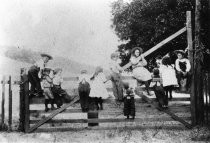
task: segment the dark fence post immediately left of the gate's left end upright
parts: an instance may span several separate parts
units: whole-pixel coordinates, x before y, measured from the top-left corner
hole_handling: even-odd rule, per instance
[[[24,80],[23,80],[24,69],[20,69],[20,101],[19,101],[19,127],[18,130],[24,131],[24,120],[25,120],[25,99],[24,99]]]

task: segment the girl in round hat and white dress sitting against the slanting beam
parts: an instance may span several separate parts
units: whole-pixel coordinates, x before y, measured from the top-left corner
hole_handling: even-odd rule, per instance
[[[144,67],[147,65],[147,61],[145,60],[142,53],[143,53],[142,48],[135,47],[132,50],[130,62],[133,68],[133,76],[137,79],[137,82],[145,84],[147,93],[148,95],[150,95],[149,85],[152,76],[151,73]]]

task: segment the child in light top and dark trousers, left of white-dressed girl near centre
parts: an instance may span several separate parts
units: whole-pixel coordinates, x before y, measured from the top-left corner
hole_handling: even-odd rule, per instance
[[[80,97],[80,105],[82,108],[82,112],[87,112],[88,111],[88,98],[90,94],[90,84],[89,81],[90,78],[87,75],[86,70],[82,70],[81,74],[79,75],[79,86],[78,86],[78,92],[79,92],[79,97]]]

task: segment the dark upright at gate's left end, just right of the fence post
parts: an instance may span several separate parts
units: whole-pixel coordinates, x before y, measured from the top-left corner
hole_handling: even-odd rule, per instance
[[[29,111],[29,81],[28,81],[28,75],[26,72],[23,75],[23,81],[24,81],[24,106],[25,106],[25,119],[24,119],[24,129],[25,132],[27,133],[29,128],[30,128],[30,111]]]

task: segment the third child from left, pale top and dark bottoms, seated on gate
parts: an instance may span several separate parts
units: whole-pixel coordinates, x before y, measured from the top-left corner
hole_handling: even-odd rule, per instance
[[[60,108],[63,105],[63,102],[71,102],[72,98],[68,93],[61,88],[61,84],[63,82],[62,78],[62,69],[57,68],[54,70],[54,78],[53,78],[53,87],[52,92],[54,95],[54,101],[57,105],[57,108]]]

